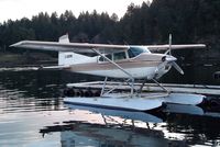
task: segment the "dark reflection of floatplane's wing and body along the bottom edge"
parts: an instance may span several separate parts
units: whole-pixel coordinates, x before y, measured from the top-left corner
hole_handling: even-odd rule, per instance
[[[130,147],[156,146],[164,147],[178,142],[164,138],[163,132],[132,125],[101,125],[84,122],[67,122],[63,126],[48,126],[41,133],[62,132],[62,146],[91,146],[91,147]]]

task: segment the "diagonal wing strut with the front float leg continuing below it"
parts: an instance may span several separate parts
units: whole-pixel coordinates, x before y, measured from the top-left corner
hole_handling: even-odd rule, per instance
[[[91,48],[95,53],[97,53],[98,55],[100,55],[101,57],[103,57],[106,60],[108,60],[109,63],[111,63],[112,65],[114,65],[118,69],[120,69],[122,72],[124,72],[125,75],[128,75],[129,80],[131,80],[131,97],[134,95],[134,78],[133,76],[128,72],[127,70],[124,70],[121,66],[119,66],[117,63],[114,63],[113,60],[107,58],[103,54],[101,54],[100,52],[98,52],[96,48]],[[106,81],[106,80],[105,80]],[[106,84],[106,82],[105,82]],[[105,86],[103,86],[105,87]],[[103,93],[102,93],[103,94]]]

